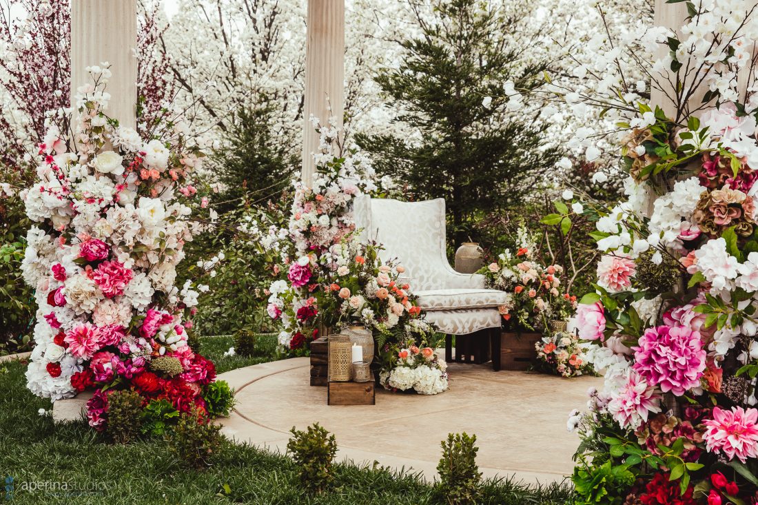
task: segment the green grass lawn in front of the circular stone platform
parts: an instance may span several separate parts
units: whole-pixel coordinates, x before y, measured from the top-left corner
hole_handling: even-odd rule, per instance
[[[265,360],[262,356],[243,361],[239,356],[224,358],[231,341],[231,337],[206,338],[202,352],[214,359],[221,356],[220,370]],[[289,458],[230,442],[208,469],[183,469],[162,441],[112,445],[84,422],[54,425],[50,416],[39,415],[38,410],[50,409],[51,403],[27,391],[25,370],[21,362],[0,364],[0,481],[11,475],[15,486],[13,499],[7,503],[441,503],[418,475],[346,464],[337,466],[330,491],[309,496],[299,488]],[[558,505],[569,496],[566,486],[527,488],[512,481],[487,481],[481,503]],[[0,485],[0,501],[3,498]]]

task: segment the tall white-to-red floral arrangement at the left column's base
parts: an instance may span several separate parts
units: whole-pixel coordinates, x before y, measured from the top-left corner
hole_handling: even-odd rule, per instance
[[[97,429],[118,389],[207,412],[215,367],[187,345],[199,292],[174,285],[197,229],[187,203],[204,155],[171,121],[149,139],[119,126],[107,115],[107,65],[89,71],[76,120],[49,117],[39,182],[23,196],[36,223],[23,277],[39,306],[28,387],[52,400],[96,389],[87,408]]]

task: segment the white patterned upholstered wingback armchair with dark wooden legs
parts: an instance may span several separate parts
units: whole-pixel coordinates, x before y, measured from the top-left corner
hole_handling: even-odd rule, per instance
[[[447,334],[446,359],[484,362],[490,354],[500,369],[500,313],[506,293],[484,287],[484,275],[461,274],[449,265],[445,243],[445,201],[399,202],[359,196],[354,209],[361,240],[384,246],[382,259],[399,260],[429,322]]]

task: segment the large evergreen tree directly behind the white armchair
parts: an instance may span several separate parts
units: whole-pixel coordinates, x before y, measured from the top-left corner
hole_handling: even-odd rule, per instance
[[[454,245],[478,240],[474,224],[521,204],[559,158],[537,113],[518,111],[518,92],[540,85],[547,62],[523,61],[525,48],[510,47],[519,19],[495,4],[437,0],[431,16],[416,8],[418,36],[399,42],[398,68],[375,77],[410,134],[356,137],[377,171],[418,198],[445,199]]]

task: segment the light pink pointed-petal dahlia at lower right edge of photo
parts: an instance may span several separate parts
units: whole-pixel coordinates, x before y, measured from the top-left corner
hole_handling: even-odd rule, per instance
[[[747,458],[758,457],[758,410],[731,407],[722,410],[713,407],[713,419],[703,424],[707,429],[703,434],[706,449],[710,453],[723,453],[734,460],[737,456],[742,463]]]

